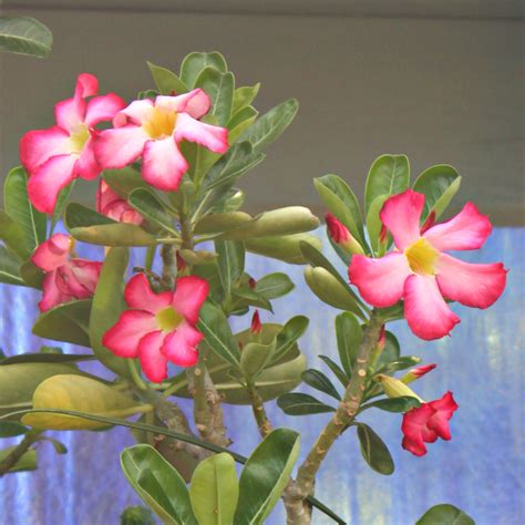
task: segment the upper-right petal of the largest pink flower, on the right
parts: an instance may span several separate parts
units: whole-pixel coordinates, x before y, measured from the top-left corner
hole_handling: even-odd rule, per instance
[[[424,237],[439,250],[478,249],[492,233],[488,217],[472,203],[446,223],[432,226]]]

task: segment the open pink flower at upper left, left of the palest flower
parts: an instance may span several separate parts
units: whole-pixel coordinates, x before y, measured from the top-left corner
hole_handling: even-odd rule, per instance
[[[74,178],[91,181],[101,173],[93,152],[93,127],[111,121],[125,103],[114,93],[85,102],[97,92],[96,78],[82,73],[74,96],[54,106],[56,125],[30,131],[20,141],[20,158],[30,175],[29,198],[40,212],[53,213],[60,191]]]

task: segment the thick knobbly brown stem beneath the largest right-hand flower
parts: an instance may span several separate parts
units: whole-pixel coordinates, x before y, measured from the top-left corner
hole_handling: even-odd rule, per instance
[[[333,416],[322,429],[308,456],[299,467],[297,480],[285,491],[284,500],[289,524],[308,525],[311,521],[311,513],[306,497],[313,493],[316,474],[328,451],[356,418],[366,389],[370,357],[378,344],[382,322],[383,320],[378,312],[372,312],[363,333],[363,340],[359,346],[356,366],[344,395]]]

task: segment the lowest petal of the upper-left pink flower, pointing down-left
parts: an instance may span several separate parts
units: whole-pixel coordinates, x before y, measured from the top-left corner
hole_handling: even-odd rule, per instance
[[[29,199],[39,212],[53,213],[60,191],[75,178],[75,163],[73,155],[56,155],[29,177]]]

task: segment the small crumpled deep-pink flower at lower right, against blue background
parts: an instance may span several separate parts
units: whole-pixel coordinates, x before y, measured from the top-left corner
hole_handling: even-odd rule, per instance
[[[403,449],[421,456],[426,454],[425,443],[434,443],[437,437],[449,441],[451,439],[449,421],[457,408],[452,392],[446,392],[441,399],[409,410],[403,415],[401,424],[404,435]]]

